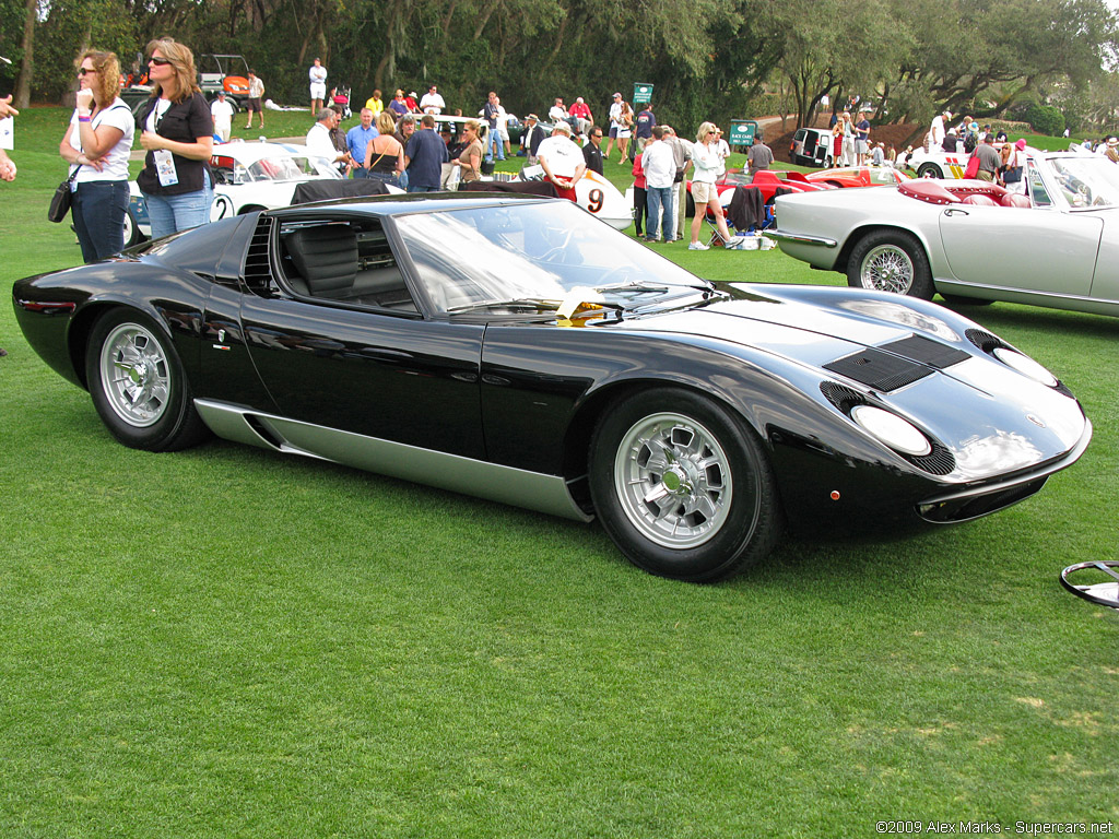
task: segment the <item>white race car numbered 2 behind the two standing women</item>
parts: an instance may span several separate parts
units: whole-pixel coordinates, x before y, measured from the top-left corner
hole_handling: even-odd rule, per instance
[[[210,158],[214,204],[210,220],[291,205],[295,187],[308,180],[341,180],[329,160],[308,155],[307,147],[286,143],[220,143]],[[124,246],[151,236],[148,207],[140,188],[129,183]]]

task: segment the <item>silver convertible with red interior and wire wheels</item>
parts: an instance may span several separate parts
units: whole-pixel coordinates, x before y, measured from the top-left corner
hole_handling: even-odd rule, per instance
[[[1119,166],[1028,151],[1028,195],[916,179],[777,199],[781,249],[850,285],[1119,317]]]

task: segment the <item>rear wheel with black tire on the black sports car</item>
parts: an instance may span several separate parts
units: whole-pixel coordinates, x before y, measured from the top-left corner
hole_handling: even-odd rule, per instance
[[[168,334],[134,309],[113,309],[90,333],[86,381],[101,421],[131,449],[168,452],[206,436]]]

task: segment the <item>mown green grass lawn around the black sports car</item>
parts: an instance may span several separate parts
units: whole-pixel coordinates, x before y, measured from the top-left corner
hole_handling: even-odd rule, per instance
[[[66,116],[17,119],[4,294],[81,260],[46,221]],[[841,282],[777,251],[658,247],[717,281]],[[970,525],[791,534],[697,586],[596,525],[219,441],[124,449],[0,305],[0,836],[1119,822],[1119,613],[1057,583],[1119,558],[1119,321],[971,314],[1084,403],[1080,463]]]

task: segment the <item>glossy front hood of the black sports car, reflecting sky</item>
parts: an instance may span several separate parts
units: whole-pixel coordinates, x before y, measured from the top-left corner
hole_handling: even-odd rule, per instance
[[[828,290],[814,294],[821,291]],[[1090,433],[1075,398],[977,348],[953,313],[946,311],[940,319],[937,307],[920,311],[882,295],[841,292],[825,299],[827,305],[751,294],[619,327],[712,341],[727,352],[742,351],[744,358],[788,362],[787,375],[873,392],[876,402],[949,447],[955,480],[1034,466],[1082,444]],[[919,351],[910,352],[914,346]],[[862,377],[863,359],[882,352],[911,375],[888,381]],[[781,365],[768,366],[780,375]]]

